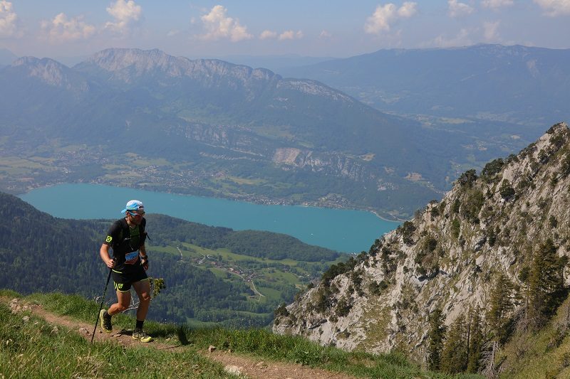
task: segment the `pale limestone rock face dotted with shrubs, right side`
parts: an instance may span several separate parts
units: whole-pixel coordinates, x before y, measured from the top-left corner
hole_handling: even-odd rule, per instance
[[[462,174],[442,201],[380,237],[368,254],[329,269],[279,310],[273,330],[348,350],[398,348],[423,361],[436,308],[447,325],[477,306],[484,318],[499,273],[522,285],[519,273],[549,238],[570,256],[569,208],[570,130],[560,123],[480,176]]]

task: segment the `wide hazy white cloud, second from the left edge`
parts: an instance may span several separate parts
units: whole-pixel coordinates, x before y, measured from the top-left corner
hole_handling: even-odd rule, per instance
[[[41,29],[52,42],[77,41],[95,33],[95,26],[83,21],[83,16],[70,19],[63,13],[51,21],[41,21]]]

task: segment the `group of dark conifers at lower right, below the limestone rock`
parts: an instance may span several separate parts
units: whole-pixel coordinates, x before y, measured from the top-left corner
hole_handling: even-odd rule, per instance
[[[515,331],[538,331],[568,296],[564,268],[568,257],[556,254],[553,240],[539,245],[531,262],[519,272],[517,286],[503,272],[494,279],[487,311],[475,306],[457,316],[449,327],[440,308],[430,314],[427,367],[446,373],[497,373],[499,346]]]

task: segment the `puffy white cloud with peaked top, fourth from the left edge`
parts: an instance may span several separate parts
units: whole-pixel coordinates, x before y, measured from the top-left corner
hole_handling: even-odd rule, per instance
[[[247,27],[240,25],[237,18],[227,16],[227,9],[224,6],[214,6],[209,14],[204,14],[200,19],[207,31],[200,37],[205,40],[216,41],[229,38],[231,41],[237,42],[253,38],[251,34],[247,33]]]

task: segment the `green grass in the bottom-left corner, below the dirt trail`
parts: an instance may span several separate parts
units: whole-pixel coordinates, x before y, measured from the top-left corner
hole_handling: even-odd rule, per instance
[[[123,348],[114,341],[90,345],[75,331],[36,316],[26,320],[23,314],[0,304],[1,378],[235,378],[195,348]]]

